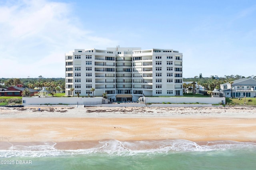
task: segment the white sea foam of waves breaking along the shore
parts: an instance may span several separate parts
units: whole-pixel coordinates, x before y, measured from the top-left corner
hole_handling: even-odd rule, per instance
[[[148,141],[124,141],[104,140],[93,148],[78,150],[58,150],[54,148],[55,142],[49,142],[32,146],[14,146],[7,150],[0,150],[0,158],[10,157],[43,157],[43,156],[65,156],[82,155],[92,153],[106,153],[113,155],[135,155],[140,153],[170,153],[170,152],[204,152],[214,150],[242,149],[251,148],[256,150],[256,143],[236,142],[236,141],[218,141],[207,142],[205,145],[199,145],[189,140],[148,140]]]

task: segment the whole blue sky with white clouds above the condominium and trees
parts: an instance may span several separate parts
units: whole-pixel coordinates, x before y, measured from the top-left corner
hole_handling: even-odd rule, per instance
[[[183,77],[256,75],[255,0],[0,0],[0,77],[65,77],[74,49],[183,53]]]

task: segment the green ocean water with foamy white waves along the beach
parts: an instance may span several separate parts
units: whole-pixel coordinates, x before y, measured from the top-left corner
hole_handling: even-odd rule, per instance
[[[56,143],[0,150],[0,170],[255,170],[256,143],[188,140],[103,140],[59,150]]]

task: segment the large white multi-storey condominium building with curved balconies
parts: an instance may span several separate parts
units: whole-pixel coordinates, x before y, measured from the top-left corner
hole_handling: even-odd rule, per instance
[[[106,93],[116,102],[182,95],[182,53],[173,49],[75,49],[65,61],[66,95]]]

